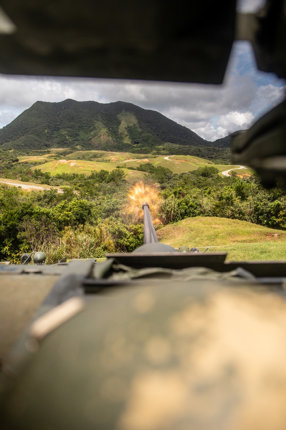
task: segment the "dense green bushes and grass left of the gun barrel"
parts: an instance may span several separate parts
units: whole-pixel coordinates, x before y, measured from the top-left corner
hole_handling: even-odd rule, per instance
[[[82,197],[84,192],[75,195],[71,188],[65,188],[63,194],[52,189],[25,194],[2,185],[1,259],[18,262],[23,252],[40,249],[51,263],[63,256],[88,258],[104,257],[106,252],[130,252],[141,245],[143,226],[126,225],[119,216],[125,199],[122,190],[120,193],[120,178],[114,177],[111,182],[110,174],[107,176],[102,174],[96,179],[116,197],[101,191],[96,199],[87,200]]]

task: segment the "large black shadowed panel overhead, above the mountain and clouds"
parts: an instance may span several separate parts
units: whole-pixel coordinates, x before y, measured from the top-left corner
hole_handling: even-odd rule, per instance
[[[14,25],[0,34],[1,73],[222,83],[234,40],[230,0],[0,5]]]

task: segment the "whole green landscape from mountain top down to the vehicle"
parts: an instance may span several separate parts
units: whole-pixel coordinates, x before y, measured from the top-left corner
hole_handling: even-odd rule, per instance
[[[247,166],[232,166],[229,136],[207,142],[121,101],[38,101],[0,130],[0,145],[0,260],[34,249],[49,263],[132,251],[143,242],[142,219],[126,209],[138,181],[157,187],[163,242],[285,258],[284,184],[265,190]]]

